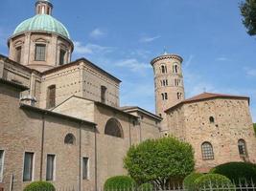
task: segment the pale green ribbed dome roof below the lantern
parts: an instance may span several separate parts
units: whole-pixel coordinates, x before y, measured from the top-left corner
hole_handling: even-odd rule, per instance
[[[70,39],[69,32],[64,25],[48,14],[36,14],[34,17],[23,21],[17,26],[13,34],[34,31],[55,32]]]

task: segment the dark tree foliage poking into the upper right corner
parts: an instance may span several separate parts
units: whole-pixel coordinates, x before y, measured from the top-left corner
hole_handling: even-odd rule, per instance
[[[249,35],[256,35],[256,0],[245,0],[241,3],[240,11],[244,27]]]

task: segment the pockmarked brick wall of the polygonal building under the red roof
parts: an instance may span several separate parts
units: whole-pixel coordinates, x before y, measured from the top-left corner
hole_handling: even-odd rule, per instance
[[[184,113],[179,114],[182,110]],[[177,119],[178,116],[183,120]],[[209,117],[214,117],[214,122],[210,122]],[[241,138],[246,142],[247,160],[256,161],[256,138],[247,99],[213,98],[185,103],[172,110],[168,120],[170,131],[178,138],[183,134],[193,145],[199,171],[207,172],[224,162],[244,160],[238,150]],[[202,159],[201,144],[205,141],[212,144],[214,159]]]

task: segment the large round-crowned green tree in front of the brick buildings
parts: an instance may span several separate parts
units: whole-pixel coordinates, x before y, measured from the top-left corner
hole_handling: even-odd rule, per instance
[[[128,174],[138,183],[153,182],[159,188],[194,171],[194,151],[176,138],[148,139],[128,150],[124,159]]]

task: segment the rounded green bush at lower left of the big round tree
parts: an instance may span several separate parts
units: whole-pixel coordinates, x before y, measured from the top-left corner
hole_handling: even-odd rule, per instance
[[[135,180],[128,176],[111,177],[105,181],[105,190],[121,189],[122,191],[129,191],[136,185]]]

